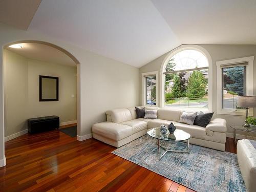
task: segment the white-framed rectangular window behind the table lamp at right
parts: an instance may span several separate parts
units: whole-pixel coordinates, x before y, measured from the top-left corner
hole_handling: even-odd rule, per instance
[[[253,57],[217,61],[217,112],[244,115],[238,97],[252,95]],[[251,112],[250,112],[251,113]]]

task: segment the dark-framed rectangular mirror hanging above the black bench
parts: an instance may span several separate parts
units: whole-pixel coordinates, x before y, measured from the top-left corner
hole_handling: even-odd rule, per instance
[[[39,75],[39,101],[59,100],[59,78]]]

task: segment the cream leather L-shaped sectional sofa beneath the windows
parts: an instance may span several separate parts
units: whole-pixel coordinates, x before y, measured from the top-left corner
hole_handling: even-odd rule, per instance
[[[225,151],[226,120],[212,119],[206,127],[180,123],[181,110],[166,108],[157,109],[158,119],[136,119],[135,107],[106,111],[105,122],[92,126],[93,138],[104,143],[120,147],[146,134],[148,129],[169,125],[173,122],[177,129],[186,131],[191,135],[191,144]]]

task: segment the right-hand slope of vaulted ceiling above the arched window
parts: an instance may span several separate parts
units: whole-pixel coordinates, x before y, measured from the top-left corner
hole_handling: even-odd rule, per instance
[[[152,0],[182,44],[256,44],[255,0]]]

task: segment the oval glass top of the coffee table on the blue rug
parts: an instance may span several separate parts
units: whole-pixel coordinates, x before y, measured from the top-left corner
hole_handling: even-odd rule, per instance
[[[173,134],[169,134],[169,131],[167,131],[166,134],[160,133],[159,135],[156,134],[156,129],[157,128],[153,128],[153,129],[147,131],[147,134],[156,139],[161,139],[161,140],[165,140],[165,141],[184,141],[184,140],[187,140],[190,138],[189,133],[184,132],[179,129],[176,129]]]

